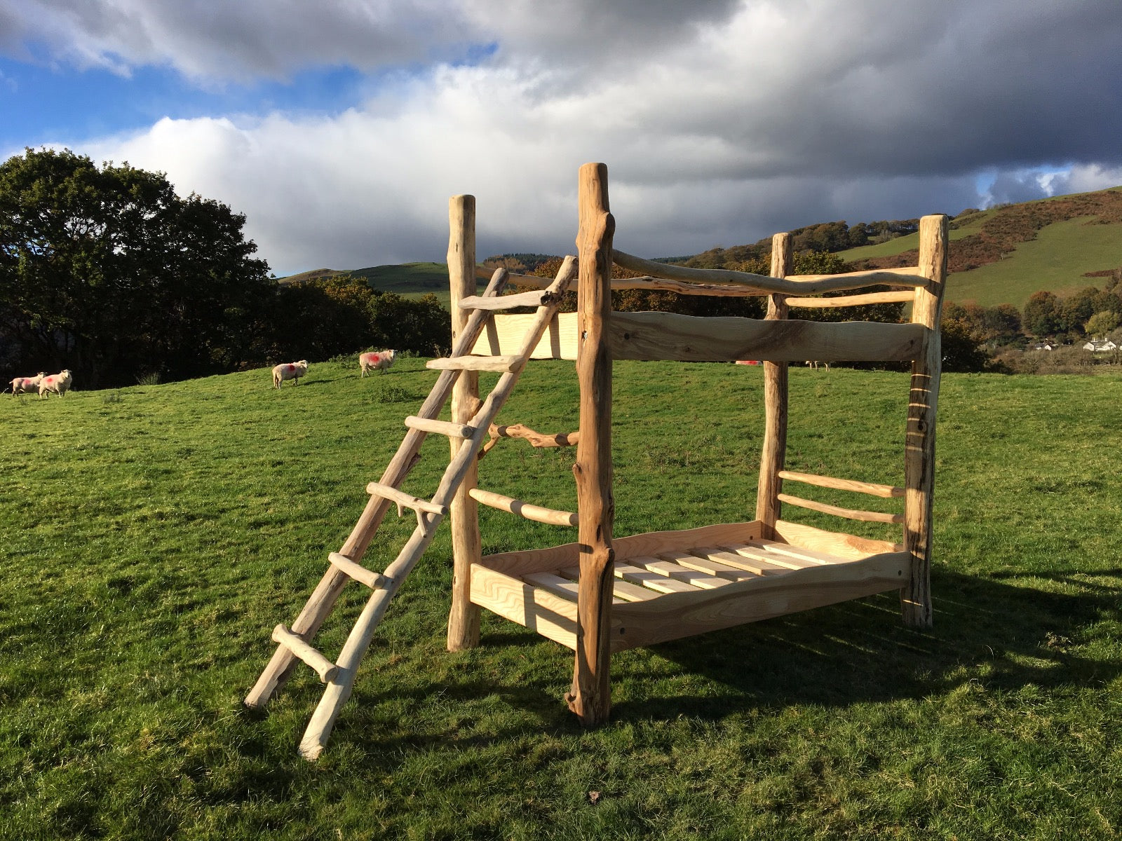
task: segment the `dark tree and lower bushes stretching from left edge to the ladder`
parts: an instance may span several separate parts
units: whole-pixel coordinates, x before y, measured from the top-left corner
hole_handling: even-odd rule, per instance
[[[0,165],[0,378],[68,368],[77,388],[318,361],[435,354],[450,316],[365,278],[279,286],[245,216],[167,178],[33,150]]]

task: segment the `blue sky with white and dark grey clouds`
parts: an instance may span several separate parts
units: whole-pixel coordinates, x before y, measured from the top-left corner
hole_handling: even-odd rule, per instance
[[[1119,0],[0,0],[0,159],[246,215],[272,270],[644,257],[1122,184]]]

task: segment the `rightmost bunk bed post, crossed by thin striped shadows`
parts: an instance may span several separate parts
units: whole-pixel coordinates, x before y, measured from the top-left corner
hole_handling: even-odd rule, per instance
[[[942,349],[939,318],[947,279],[947,218],[919,223],[919,268],[928,283],[916,289],[912,323],[930,332],[923,355],[912,362],[904,442],[904,549],[911,554],[908,585],[900,591],[904,623],[931,627],[931,491],[935,488],[935,409]]]

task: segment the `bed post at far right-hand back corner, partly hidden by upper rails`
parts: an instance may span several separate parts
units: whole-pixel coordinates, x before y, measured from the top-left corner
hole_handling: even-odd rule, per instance
[[[791,234],[776,233],[772,237],[772,277],[791,274]],[[788,313],[785,295],[767,296],[767,320],[785,318]],[[787,362],[764,362],[764,443],[760,454],[760,483],[756,487],[756,519],[763,524],[763,537],[775,538],[775,520],[779,519],[779,493],[783,480],[787,455]]]

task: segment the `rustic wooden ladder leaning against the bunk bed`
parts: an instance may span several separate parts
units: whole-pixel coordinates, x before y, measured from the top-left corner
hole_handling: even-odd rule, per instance
[[[371,498],[362,516],[342,548],[328,556],[328,571],[296,617],[296,621],[291,628],[278,625],[273,630],[273,641],[277,644],[277,648],[254,688],[246,696],[245,703],[250,708],[261,708],[267,704],[287,680],[297,659],[311,666],[327,684],[327,688],[300,743],[301,756],[305,759],[316,759],[327,745],[339,710],[350,697],[358,665],[389,606],[389,600],[421,560],[436,528],[448,515],[449,503],[476,461],[482,440],[487,436],[487,427],[509,396],[576,276],[577,260],[568,257],[557,279],[545,292],[535,290],[500,297],[499,293],[507,281],[507,272],[505,269],[499,269],[481,296],[461,299],[460,306],[472,311],[467,326],[457,339],[451,357],[427,363],[429,368],[440,370],[441,375],[420,413],[405,418],[408,432],[381,480],[367,486],[366,490]],[[536,305],[537,312],[515,355],[470,355],[494,312],[527,305]],[[454,424],[439,420],[436,416],[444,408],[452,392],[452,386],[463,371],[499,371],[502,376],[469,423]],[[416,463],[421,444],[429,433],[448,435],[452,441],[459,440],[461,443],[456,449],[435,495],[431,500],[424,500],[398,490],[398,486]],[[364,567],[359,562],[390,505],[396,505],[398,512],[403,507],[412,508],[416,512],[417,526],[396,560],[385,572],[377,573]],[[342,589],[352,580],[365,584],[374,592],[358,621],[355,622],[339,658],[332,663],[311,645],[311,640],[330,614]]]

